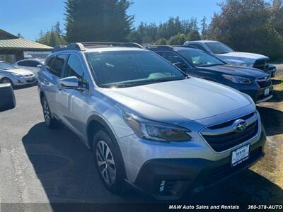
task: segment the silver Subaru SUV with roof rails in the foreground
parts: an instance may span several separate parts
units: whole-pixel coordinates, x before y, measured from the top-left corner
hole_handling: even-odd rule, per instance
[[[127,183],[178,199],[264,155],[265,131],[248,95],[187,76],[139,45],[57,47],[38,86],[47,126],[74,131],[116,194]]]

